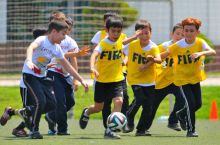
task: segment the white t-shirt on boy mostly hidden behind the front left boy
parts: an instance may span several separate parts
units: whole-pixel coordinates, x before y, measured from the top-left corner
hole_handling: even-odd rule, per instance
[[[78,47],[76,41],[73,40],[68,35],[66,35],[65,39],[63,41],[61,41],[60,47],[61,47],[64,54],[69,52],[69,51],[71,51],[73,53],[78,53],[79,52],[79,47]],[[53,58],[51,63],[57,63],[56,58]],[[69,75],[69,73],[67,73],[65,71],[65,69],[60,64],[54,65],[53,68],[50,68],[49,70],[60,73],[60,74],[63,74],[64,76]]]

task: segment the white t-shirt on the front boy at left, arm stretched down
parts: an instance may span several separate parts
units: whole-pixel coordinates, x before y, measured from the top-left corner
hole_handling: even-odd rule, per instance
[[[32,74],[37,77],[46,76],[47,65],[53,57],[64,59],[64,53],[58,44],[52,44],[47,36],[40,36],[32,43],[37,43],[38,48],[34,49],[32,62],[40,69],[40,74],[31,70],[26,62],[24,63],[22,73]]]

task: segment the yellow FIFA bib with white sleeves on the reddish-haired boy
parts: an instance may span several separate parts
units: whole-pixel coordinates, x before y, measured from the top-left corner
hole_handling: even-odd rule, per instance
[[[196,38],[193,44],[187,44],[185,39],[182,39],[169,46],[168,51],[174,61],[173,80],[176,86],[196,84],[206,79],[203,67],[204,57],[195,60],[190,58],[191,54],[203,51],[204,43],[206,42],[200,38]]]

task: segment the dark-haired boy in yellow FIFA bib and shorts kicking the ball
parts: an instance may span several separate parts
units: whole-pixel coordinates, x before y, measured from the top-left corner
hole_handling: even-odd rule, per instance
[[[95,74],[95,103],[85,108],[80,117],[80,127],[85,129],[89,116],[102,111],[106,99],[114,103],[113,112],[120,112],[122,106],[122,41],[118,41],[122,32],[122,19],[110,17],[106,21],[108,37],[103,39],[94,49],[91,56],[91,72]],[[105,130],[104,138],[120,139],[120,136],[109,128]]]

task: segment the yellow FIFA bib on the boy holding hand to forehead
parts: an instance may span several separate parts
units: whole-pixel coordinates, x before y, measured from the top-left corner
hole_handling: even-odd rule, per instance
[[[126,48],[125,48],[126,49]],[[126,52],[126,50],[125,50]],[[147,63],[147,56],[156,56],[160,54],[158,46],[150,41],[144,48],[140,45],[140,40],[134,40],[127,46],[127,80],[130,85],[147,85],[155,83],[155,64],[150,65],[147,69],[139,71],[140,66]]]

